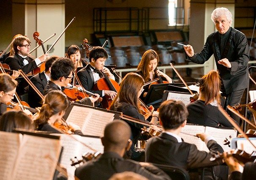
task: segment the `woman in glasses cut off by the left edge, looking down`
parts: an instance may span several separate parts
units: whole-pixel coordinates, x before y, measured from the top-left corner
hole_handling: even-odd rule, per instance
[[[14,99],[17,84],[9,74],[0,74],[0,115],[7,110],[6,103]]]

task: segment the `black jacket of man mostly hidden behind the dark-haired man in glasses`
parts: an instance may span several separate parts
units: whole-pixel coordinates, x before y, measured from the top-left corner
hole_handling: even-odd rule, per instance
[[[37,89],[43,94],[44,88],[46,87],[48,82],[44,72],[35,74],[35,76],[31,77],[30,80],[31,82],[33,82],[35,87],[37,87]],[[40,96],[35,92],[35,90],[31,86],[29,86],[28,103],[30,107],[32,108],[41,107],[42,106],[41,101],[42,99],[40,98]]]

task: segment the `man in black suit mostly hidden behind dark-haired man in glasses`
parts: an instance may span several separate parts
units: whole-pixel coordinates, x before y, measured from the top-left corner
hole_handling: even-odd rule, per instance
[[[47,85],[47,82],[50,80],[51,77],[51,66],[52,63],[59,58],[58,56],[51,56],[46,59],[45,61],[45,70],[41,73],[35,74],[31,77],[30,81],[35,85],[35,87],[43,94],[44,88]],[[29,86],[28,91],[28,103],[30,107],[36,108],[42,106],[42,99],[40,96],[35,92],[35,90]]]

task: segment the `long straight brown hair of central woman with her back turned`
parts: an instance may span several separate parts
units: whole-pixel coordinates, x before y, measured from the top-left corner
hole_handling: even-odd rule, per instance
[[[114,110],[116,107],[120,106],[120,102],[125,102],[133,105],[140,112],[138,106],[138,93],[142,85],[144,85],[144,80],[141,75],[133,72],[126,74],[110,109]]]

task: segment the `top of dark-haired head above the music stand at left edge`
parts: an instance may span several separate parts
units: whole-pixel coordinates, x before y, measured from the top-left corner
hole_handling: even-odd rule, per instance
[[[5,111],[0,118],[0,131],[12,132],[14,128],[34,130],[32,120],[23,111]]]

